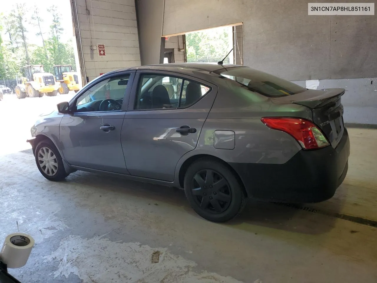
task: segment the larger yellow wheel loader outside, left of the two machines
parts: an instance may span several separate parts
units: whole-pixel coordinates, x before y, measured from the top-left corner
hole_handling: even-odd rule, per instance
[[[43,65],[29,65],[23,68],[25,77],[22,83],[18,84],[14,91],[18,99],[28,97],[55,96],[58,94],[60,83],[55,82],[54,76],[45,73]]]

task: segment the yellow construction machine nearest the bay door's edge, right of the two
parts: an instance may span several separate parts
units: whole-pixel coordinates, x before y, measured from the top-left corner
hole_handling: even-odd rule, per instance
[[[77,72],[72,71],[72,65],[52,66],[52,72],[55,75],[56,81],[60,82],[60,88],[58,89],[60,94],[67,94],[69,91],[79,91],[78,75]]]

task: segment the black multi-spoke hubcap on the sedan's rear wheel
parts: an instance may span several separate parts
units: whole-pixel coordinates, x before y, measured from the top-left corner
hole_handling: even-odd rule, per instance
[[[192,180],[191,191],[196,204],[205,211],[220,213],[230,205],[229,183],[216,171],[205,169],[197,172]]]

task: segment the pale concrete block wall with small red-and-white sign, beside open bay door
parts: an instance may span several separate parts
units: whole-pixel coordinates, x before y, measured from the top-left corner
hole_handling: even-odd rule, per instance
[[[100,73],[141,65],[134,0],[87,0],[87,7],[85,0],[76,0],[76,4],[89,81]],[[90,36],[93,46],[105,45],[106,56],[90,49]]]

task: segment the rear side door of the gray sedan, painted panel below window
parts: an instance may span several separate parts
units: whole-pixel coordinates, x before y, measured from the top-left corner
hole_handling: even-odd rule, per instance
[[[211,87],[210,92],[189,108],[126,112],[121,140],[131,175],[174,180],[178,160],[196,148],[202,126],[217,94],[217,87]],[[132,107],[135,105],[135,96],[133,94],[130,98]],[[195,128],[196,132],[176,132],[176,129],[185,125]]]

